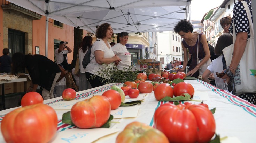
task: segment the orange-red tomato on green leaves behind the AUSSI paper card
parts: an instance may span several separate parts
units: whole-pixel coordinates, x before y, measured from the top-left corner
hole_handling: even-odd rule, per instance
[[[111,105],[105,96],[95,95],[72,106],[70,116],[79,128],[99,128],[110,117]]]

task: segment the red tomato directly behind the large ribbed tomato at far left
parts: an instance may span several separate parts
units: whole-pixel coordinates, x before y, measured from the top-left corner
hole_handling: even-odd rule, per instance
[[[37,92],[28,92],[21,98],[21,107],[38,103],[44,103],[44,100]]]

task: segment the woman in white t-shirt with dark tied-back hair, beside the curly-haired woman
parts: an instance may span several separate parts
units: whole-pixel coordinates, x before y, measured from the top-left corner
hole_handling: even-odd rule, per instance
[[[129,66],[131,66],[131,57],[132,55],[127,50],[125,44],[128,42],[128,32],[121,32],[120,33],[120,42],[115,44],[112,47],[113,52],[122,59],[120,61],[119,65],[117,65],[118,70],[124,70],[126,71]]]

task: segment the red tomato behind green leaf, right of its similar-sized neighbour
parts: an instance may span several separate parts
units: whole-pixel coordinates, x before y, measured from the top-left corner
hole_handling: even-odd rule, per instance
[[[191,97],[193,97],[195,90],[190,83],[180,82],[174,86],[173,92],[174,96],[184,96],[183,93],[188,93]]]

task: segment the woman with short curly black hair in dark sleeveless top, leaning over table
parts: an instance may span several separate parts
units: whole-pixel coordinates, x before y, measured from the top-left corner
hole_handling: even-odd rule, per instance
[[[191,54],[192,61],[187,75],[198,78],[199,75],[203,75],[203,72],[211,63],[210,50],[205,35],[203,33],[193,33],[194,29],[192,24],[186,20],[179,21],[173,29],[174,32],[178,33],[181,38],[183,38],[181,46],[184,51],[184,62],[183,67],[179,70],[185,70],[189,53]],[[197,59],[200,61],[198,64]]]

